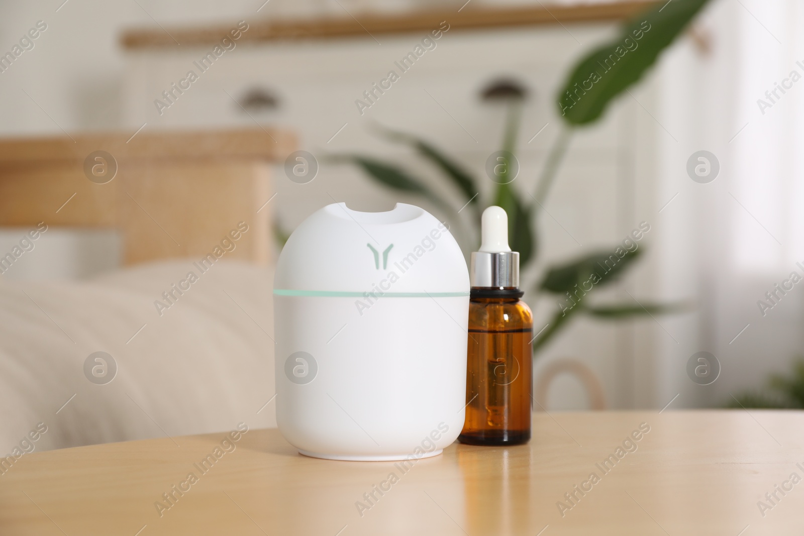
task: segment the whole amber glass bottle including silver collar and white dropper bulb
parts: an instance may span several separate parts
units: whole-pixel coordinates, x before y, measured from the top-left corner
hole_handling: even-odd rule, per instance
[[[508,246],[508,216],[488,207],[470,262],[466,420],[458,440],[515,445],[531,439],[533,314],[519,298],[519,252]]]

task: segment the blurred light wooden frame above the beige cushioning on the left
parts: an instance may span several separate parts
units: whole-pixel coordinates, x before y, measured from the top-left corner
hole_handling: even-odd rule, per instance
[[[246,222],[227,256],[267,264],[270,169],[295,144],[272,129],[0,140],[0,226],[111,227],[135,264],[206,256]]]

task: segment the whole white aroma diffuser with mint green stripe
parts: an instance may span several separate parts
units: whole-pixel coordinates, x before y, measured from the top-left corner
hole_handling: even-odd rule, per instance
[[[290,235],[273,287],[277,424],[301,454],[418,459],[457,438],[470,287],[444,224],[329,205]]]

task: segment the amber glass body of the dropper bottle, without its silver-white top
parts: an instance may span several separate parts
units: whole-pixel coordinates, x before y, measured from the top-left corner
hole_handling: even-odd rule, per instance
[[[515,288],[472,288],[466,420],[458,440],[515,445],[531,439],[533,314]]]

